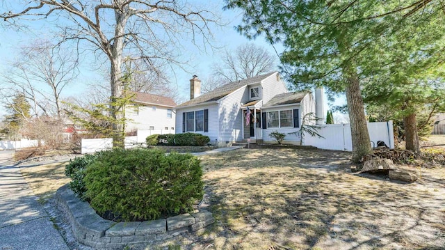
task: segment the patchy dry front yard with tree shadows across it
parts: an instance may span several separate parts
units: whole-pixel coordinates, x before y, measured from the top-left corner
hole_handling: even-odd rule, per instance
[[[349,173],[349,160],[350,153],[302,149],[202,157],[203,207],[216,223],[135,249],[444,249],[445,168],[400,166],[419,176],[403,184]],[[65,183],[63,169],[22,172],[47,196]]]

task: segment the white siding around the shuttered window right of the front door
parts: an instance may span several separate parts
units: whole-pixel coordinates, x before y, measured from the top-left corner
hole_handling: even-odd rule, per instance
[[[300,109],[300,105],[292,105],[292,106],[285,106],[285,107],[279,107],[279,108],[271,108],[271,109],[263,109],[262,112],[270,112],[270,111],[280,111],[280,110],[293,110],[293,109],[299,109],[300,113],[300,125],[301,125],[301,114],[302,111]],[[283,143],[290,143],[290,144],[299,144],[300,143],[300,136],[296,136],[296,134],[289,134],[300,130],[300,127],[272,127],[267,128],[266,130],[263,130],[263,140],[265,142],[273,142],[276,141],[273,137],[270,137],[270,133],[272,132],[280,132],[286,135],[284,137]]]

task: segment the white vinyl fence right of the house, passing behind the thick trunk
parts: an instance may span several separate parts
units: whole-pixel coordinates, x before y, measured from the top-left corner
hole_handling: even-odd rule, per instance
[[[392,120],[382,123],[368,123],[368,132],[371,146],[377,147],[377,141],[384,141],[389,148],[394,148],[394,130]],[[320,125],[318,136],[305,134],[303,145],[315,146],[329,150],[353,150],[353,142],[350,134],[350,124],[327,124]]]

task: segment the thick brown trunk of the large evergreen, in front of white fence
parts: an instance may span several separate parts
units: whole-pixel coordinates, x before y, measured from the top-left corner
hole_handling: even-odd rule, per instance
[[[359,163],[364,155],[372,153],[372,148],[357,74],[348,77],[346,100],[348,102],[350,133],[353,140],[353,162]]]

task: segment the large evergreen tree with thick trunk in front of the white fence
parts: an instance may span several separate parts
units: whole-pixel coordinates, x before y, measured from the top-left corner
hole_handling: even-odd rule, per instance
[[[362,88],[391,63],[382,62],[387,59],[382,54],[391,51],[384,50],[381,38],[387,37],[390,45],[403,42],[399,31],[412,26],[425,29],[443,15],[438,2],[422,5],[428,12],[423,15],[414,1],[227,0],[227,8],[243,10],[238,31],[248,38],[265,33],[270,42],[284,43],[282,70],[293,84],[346,93],[353,162],[371,153]]]

